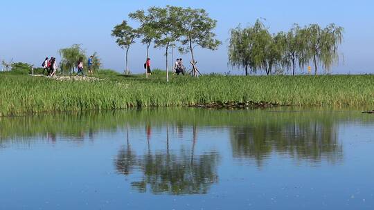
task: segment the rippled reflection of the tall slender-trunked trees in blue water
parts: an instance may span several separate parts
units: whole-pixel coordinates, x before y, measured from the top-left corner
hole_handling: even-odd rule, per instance
[[[205,194],[218,180],[216,152],[195,155],[197,128],[193,126],[193,146],[190,151],[169,150],[169,133],[166,127],[166,150],[136,156],[127,144],[115,160],[118,173],[130,175],[134,169],[141,171],[142,178],[132,182],[140,192],[168,193],[172,195]]]

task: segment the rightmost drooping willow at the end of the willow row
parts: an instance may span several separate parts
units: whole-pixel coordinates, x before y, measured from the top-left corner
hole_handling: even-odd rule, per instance
[[[308,50],[314,63],[314,74],[317,75],[319,62],[325,70],[329,70],[338,60],[338,47],[343,41],[344,28],[332,23],[322,29],[319,25],[312,24],[305,30],[308,33]]]

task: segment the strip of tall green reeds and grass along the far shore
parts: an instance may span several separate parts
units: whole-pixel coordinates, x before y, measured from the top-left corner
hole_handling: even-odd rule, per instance
[[[271,102],[294,106],[374,105],[373,75],[242,77],[206,75],[199,79],[163,73],[125,77],[103,71],[103,81],[55,81],[0,73],[0,115],[49,111],[186,106],[208,102]]]

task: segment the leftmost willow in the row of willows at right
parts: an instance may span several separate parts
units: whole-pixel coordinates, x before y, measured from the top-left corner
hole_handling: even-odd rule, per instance
[[[229,64],[232,67],[244,68],[248,75],[248,68],[255,71],[253,62],[253,28],[234,28],[229,40]]]

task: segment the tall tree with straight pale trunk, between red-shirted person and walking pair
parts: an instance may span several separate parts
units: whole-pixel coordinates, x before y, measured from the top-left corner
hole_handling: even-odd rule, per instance
[[[154,39],[154,47],[166,48],[166,81],[169,82],[168,50],[175,46],[175,42],[181,37],[180,15],[183,8],[166,6],[166,8],[152,7],[148,9],[152,19],[152,27],[157,33]]]

